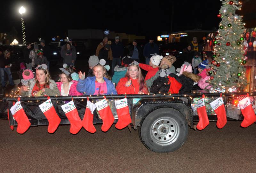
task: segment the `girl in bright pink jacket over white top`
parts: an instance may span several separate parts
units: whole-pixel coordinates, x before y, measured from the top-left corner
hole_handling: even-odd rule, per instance
[[[81,96],[83,93],[76,90],[77,81],[72,80],[70,73],[64,70],[60,74],[60,81],[56,82],[61,96]]]

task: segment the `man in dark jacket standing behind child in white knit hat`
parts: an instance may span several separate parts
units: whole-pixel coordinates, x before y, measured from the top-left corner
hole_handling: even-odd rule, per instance
[[[143,49],[143,55],[146,59],[146,63],[147,65],[149,65],[149,61],[150,61],[150,57],[152,57],[152,55],[150,54],[157,54],[159,55],[159,48],[157,46],[156,43],[154,43],[154,38],[149,38],[149,43],[145,44],[144,49]]]

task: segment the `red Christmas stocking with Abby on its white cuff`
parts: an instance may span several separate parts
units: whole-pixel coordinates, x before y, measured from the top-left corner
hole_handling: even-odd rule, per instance
[[[72,134],[76,134],[83,127],[82,120],[80,119],[76,106],[73,101],[68,102],[65,105],[61,106],[62,110],[65,112],[65,115],[70,122],[69,132]]]

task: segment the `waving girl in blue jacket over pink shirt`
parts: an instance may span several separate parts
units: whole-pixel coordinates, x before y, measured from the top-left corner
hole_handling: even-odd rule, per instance
[[[107,70],[100,64],[93,67],[93,77],[85,79],[85,73],[79,71],[79,80],[76,85],[78,92],[86,95],[111,95],[117,94],[114,84],[107,79]]]

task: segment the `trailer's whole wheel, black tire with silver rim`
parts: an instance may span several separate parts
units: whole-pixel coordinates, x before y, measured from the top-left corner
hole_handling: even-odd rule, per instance
[[[142,118],[139,135],[149,150],[157,153],[173,152],[185,143],[188,123],[176,109],[162,107]]]

